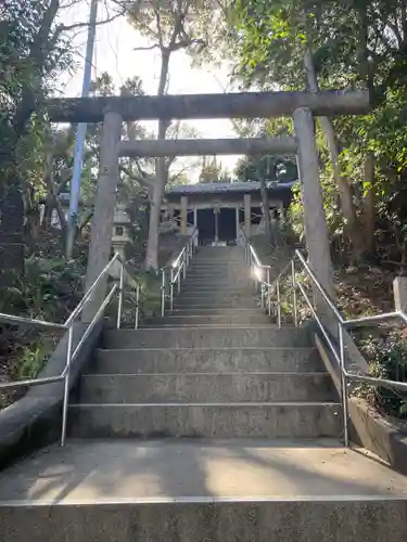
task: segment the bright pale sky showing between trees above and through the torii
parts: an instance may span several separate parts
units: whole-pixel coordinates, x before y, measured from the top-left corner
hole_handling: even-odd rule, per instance
[[[63,22],[72,24],[88,20],[89,0],[76,5],[75,9],[65,10]],[[99,10],[99,20],[105,18],[104,8]],[[80,95],[84,74],[84,56],[86,49],[86,30],[75,37],[77,62],[79,68],[73,76],[64,75],[61,78],[62,94],[65,96]],[[160,54],[157,50],[135,51],[136,48],[145,46],[143,38],[127,23],[125,17],[117,18],[97,29],[96,47],[93,54],[92,77],[107,72],[114,82],[119,87],[127,78],[139,76],[143,81],[144,92],[155,94],[160,75]],[[176,52],[170,60],[169,93],[221,93],[231,91],[228,82],[228,66],[212,68],[191,68],[190,59],[182,52]],[[228,119],[191,120],[203,138],[233,138],[237,137],[232,124]],[[156,122],[145,122],[150,129],[155,129]],[[238,156],[221,156],[218,163],[232,170]]]

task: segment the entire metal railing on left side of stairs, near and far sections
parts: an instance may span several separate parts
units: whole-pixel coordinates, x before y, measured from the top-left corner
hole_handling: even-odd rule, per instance
[[[173,307],[173,298],[174,298],[174,285],[177,283],[178,287],[180,288],[180,281],[181,281],[181,273],[183,278],[186,276],[187,273],[187,268],[190,263],[190,260],[195,251],[195,247],[198,245],[198,230],[194,230],[190,238],[187,241],[186,245],[177,256],[177,258],[173,261],[170,266],[170,306]],[[112,268],[114,264],[119,264],[120,266],[120,273],[119,273],[119,283],[114,284],[111,289],[109,291],[107,295],[104,297],[102,300],[99,309],[97,310],[97,313],[94,314],[93,319],[88,323],[84,335],[81,336],[78,345],[76,346],[75,350],[73,351],[73,330],[74,330],[74,323],[78,319],[78,317],[81,314],[82,310],[85,307],[89,304],[92,294],[94,293],[96,288],[101,284],[101,282],[106,279],[106,276],[112,272]],[[162,293],[162,302],[163,307],[165,307],[165,272],[163,270],[163,285],[164,288]],[[131,286],[135,287],[136,289],[136,306],[135,306],[135,328],[137,330],[139,326],[139,319],[140,319],[140,301],[141,301],[141,291],[140,291],[140,284],[132,279],[128,267],[126,262],[120,258],[118,254],[115,254],[113,258],[109,261],[109,263],[104,267],[104,269],[100,272],[99,276],[96,279],[93,284],[90,286],[90,288],[87,291],[87,293],[84,295],[82,299],[79,301],[75,310],[71,313],[68,319],[60,324],[60,323],[54,323],[54,322],[47,322],[42,320],[36,320],[31,318],[24,318],[24,317],[16,317],[13,314],[5,314],[5,313],[0,313],[0,323],[8,323],[12,325],[29,325],[29,326],[36,326],[36,327],[41,327],[41,328],[48,328],[48,330],[65,330],[68,332],[68,337],[67,337],[67,346],[66,346],[66,361],[65,361],[65,366],[62,371],[61,374],[56,376],[50,376],[50,377],[44,377],[44,378],[30,378],[30,379],[25,379],[25,380],[14,380],[14,382],[7,382],[7,383],[0,383],[0,389],[14,389],[14,388],[21,388],[21,387],[31,387],[31,386],[44,386],[47,384],[54,384],[58,382],[64,382],[64,393],[63,393],[63,408],[62,408],[62,427],[61,427],[61,446],[63,447],[66,441],[66,427],[67,427],[67,406],[68,406],[68,399],[69,399],[69,383],[71,383],[71,369],[73,365],[74,360],[78,356],[82,345],[85,344],[86,339],[89,337],[90,333],[94,328],[94,326],[100,322],[100,320],[103,318],[103,314],[105,312],[106,307],[112,301],[113,297],[115,294],[118,295],[118,304],[117,304],[117,318],[116,318],[116,327],[117,330],[120,328],[122,325],[122,317],[123,317],[123,305],[124,305],[124,296],[125,296],[125,286],[126,284],[130,283]],[[164,296],[164,298],[163,298]],[[162,309],[164,310],[164,309]]]

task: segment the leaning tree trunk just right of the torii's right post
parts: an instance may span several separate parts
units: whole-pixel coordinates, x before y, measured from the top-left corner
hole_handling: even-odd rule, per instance
[[[315,72],[313,53],[309,49],[305,53],[304,65],[307,75],[309,91],[317,93],[319,91],[317,74]],[[346,222],[345,232],[352,242],[354,248],[354,255],[356,257],[359,257],[364,251],[364,241],[363,241],[360,224],[356,216],[356,208],[353,201],[352,186],[347,182],[347,180],[341,175],[341,168],[339,164],[340,150],[332,122],[328,117],[319,117],[319,121],[321,124],[321,128],[325,133],[329,147],[329,153],[331,156],[333,178],[335,180],[341,198],[342,214]]]

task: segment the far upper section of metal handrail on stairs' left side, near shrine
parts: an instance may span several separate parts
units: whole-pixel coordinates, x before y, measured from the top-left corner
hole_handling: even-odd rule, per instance
[[[178,256],[171,261],[171,263],[162,269],[162,286],[161,286],[161,315],[165,315],[166,301],[169,299],[169,309],[174,308],[174,289],[177,285],[178,293],[181,291],[181,279],[186,279],[187,270],[190,261],[198,247],[198,235],[199,231],[195,228]],[[169,289],[168,297],[166,295],[167,289]]]

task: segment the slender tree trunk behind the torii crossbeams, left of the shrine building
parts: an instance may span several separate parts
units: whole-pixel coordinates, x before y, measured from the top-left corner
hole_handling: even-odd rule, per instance
[[[165,87],[168,78],[169,56],[168,49],[161,51],[161,73],[157,95],[161,96],[165,93]],[[168,120],[158,120],[158,140],[164,140],[169,126]],[[150,227],[149,240],[147,244],[145,255],[145,269],[158,269],[158,245],[160,245],[160,218],[161,218],[161,204],[163,202],[165,184],[168,178],[168,170],[165,164],[165,158],[155,159],[155,185],[153,189],[153,197],[151,199],[150,208]]]

